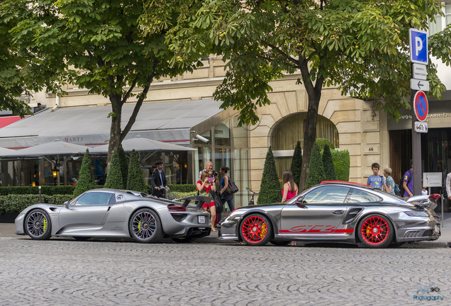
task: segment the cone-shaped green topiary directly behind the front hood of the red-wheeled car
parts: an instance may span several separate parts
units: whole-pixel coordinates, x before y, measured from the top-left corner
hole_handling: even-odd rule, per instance
[[[263,168],[262,183],[260,184],[260,193],[258,194],[258,204],[277,203],[282,200],[282,188],[277,177],[276,162],[274,154],[269,147]]]

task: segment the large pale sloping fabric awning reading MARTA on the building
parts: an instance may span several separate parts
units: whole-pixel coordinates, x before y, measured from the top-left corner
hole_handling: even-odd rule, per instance
[[[190,129],[223,111],[221,101],[171,101],[143,103],[126,138],[137,135],[177,145],[190,143]],[[125,128],[135,104],[123,106]],[[0,129],[0,147],[18,149],[53,140],[96,146],[109,140],[111,106],[46,109]]]

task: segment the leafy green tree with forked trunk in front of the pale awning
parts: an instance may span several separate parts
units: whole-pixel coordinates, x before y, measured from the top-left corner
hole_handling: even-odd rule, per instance
[[[109,165],[114,150],[135,123],[152,81],[192,71],[200,63],[176,60],[174,64],[177,52],[165,43],[168,31],[178,26],[179,15],[186,13],[179,3],[184,1],[3,0],[0,16],[11,22],[0,23],[0,33],[11,33],[8,42],[16,50],[29,50],[30,56],[19,63],[27,69],[15,73],[16,77],[40,77],[41,70],[49,67],[54,72],[44,77],[56,76],[60,85],[70,81],[89,89],[89,94],[109,99]],[[16,89],[16,95],[21,89]],[[136,101],[135,108],[130,118],[123,118],[122,107],[130,98]],[[123,129],[121,122],[126,123]]]

